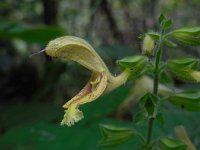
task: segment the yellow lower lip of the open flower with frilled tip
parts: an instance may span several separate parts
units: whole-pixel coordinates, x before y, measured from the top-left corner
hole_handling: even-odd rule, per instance
[[[97,99],[105,91],[106,85],[107,76],[105,72],[93,73],[87,85],[75,97],[63,105],[67,110],[65,110],[61,125],[71,126],[81,120],[84,116],[78,107]]]

